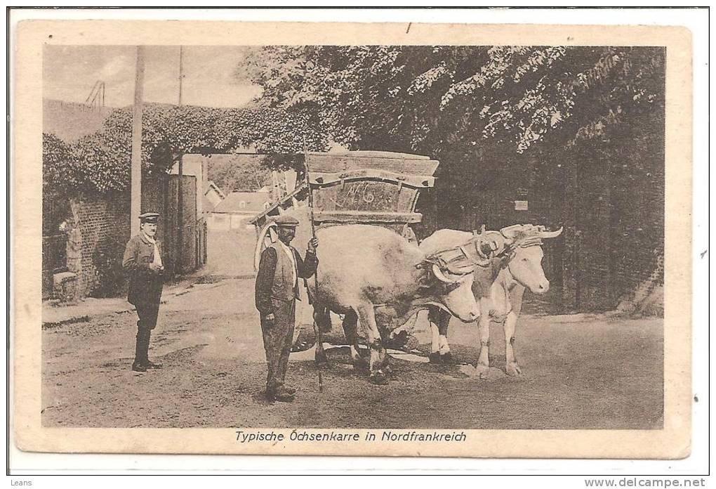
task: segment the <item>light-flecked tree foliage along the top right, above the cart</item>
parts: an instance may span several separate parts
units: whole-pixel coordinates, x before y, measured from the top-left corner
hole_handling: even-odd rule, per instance
[[[647,47],[269,46],[237,75],[263,87],[264,107],[309,113],[352,148],[439,154],[493,140],[521,153],[652,110],[663,64]]]

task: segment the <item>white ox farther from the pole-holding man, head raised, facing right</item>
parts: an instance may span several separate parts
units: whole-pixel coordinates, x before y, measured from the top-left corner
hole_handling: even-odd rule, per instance
[[[502,323],[505,333],[505,371],[508,375],[521,374],[514,345],[517,320],[522,309],[526,288],[536,294],[549,290],[549,281],[544,275],[542,239],[557,237],[562,229],[547,232],[542,226],[516,224],[500,231],[488,231],[478,235],[468,232],[442,229],[425,239],[420,247],[435,247],[438,242],[454,242],[455,239],[473,239],[476,245],[492,243],[493,254],[484,257],[475,247],[463,247],[473,252],[473,259],[480,262],[475,268],[473,293],[480,306],[478,320],[480,332],[480,357],[477,371],[484,377],[490,368],[490,321]],[[432,363],[449,363],[448,323],[450,314],[437,308],[430,309]],[[437,323],[437,324],[436,324]]]

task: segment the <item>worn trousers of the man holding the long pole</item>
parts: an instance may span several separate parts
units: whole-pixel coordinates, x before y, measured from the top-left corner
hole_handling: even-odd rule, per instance
[[[286,369],[289,366],[289,353],[294,343],[294,324],[296,323],[296,301],[271,299],[274,306],[274,321],[266,321],[261,315],[261,333],[263,349],[266,350],[266,392],[274,392],[284,385]]]

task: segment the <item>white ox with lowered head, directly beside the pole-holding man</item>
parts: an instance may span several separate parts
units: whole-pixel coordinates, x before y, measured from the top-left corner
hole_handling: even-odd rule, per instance
[[[344,314],[344,331],[354,364],[361,361],[357,322],[369,346],[370,381],[384,384],[390,376],[382,343],[416,310],[427,305],[445,308],[462,321],[480,315],[472,293],[473,269],[446,274],[412,242],[379,226],[350,224],[317,231],[320,246],[316,280],[309,280],[314,303],[316,361],[325,361],[320,337],[327,311]],[[459,245],[455,242],[453,246]],[[328,321],[329,318],[328,318]]]

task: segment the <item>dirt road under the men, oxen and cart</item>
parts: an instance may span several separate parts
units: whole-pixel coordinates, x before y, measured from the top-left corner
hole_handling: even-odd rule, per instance
[[[218,281],[216,281],[218,280]],[[386,386],[355,372],[345,348],[318,371],[311,351],[291,355],[293,404],[263,400],[266,367],[253,279],[207,280],[160,310],[150,355],[164,368],[138,374],[134,313],[44,328],[42,422],[62,427],[404,427],[656,429],[662,425],[662,319],[525,316],[506,376],[502,332],[497,369],[394,359]],[[342,343],[335,325],[328,341]],[[419,326],[420,329],[421,326]],[[453,321],[458,362],[475,363],[477,331]],[[427,333],[418,333],[427,352]]]

